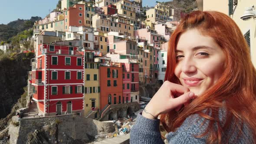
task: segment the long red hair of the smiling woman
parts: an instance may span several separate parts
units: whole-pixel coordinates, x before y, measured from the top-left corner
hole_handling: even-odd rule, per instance
[[[170,111],[161,115],[161,123],[167,132],[176,131],[184,120],[193,114],[209,120],[206,131],[197,137],[208,135],[207,143],[221,143],[221,135],[231,127],[247,124],[256,139],[256,70],[250,59],[249,47],[236,23],[227,15],[216,11],[194,11],[181,20],[169,40],[165,81],[179,83],[174,75],[175,49],[182,33],[198,29],[202,35],[212,37],[226,55],[225,70],[220,79],[203,95],[194,99],[178,113]],[[223,103],[225,101],[225,103]],[[225,108],[225,124],[221,126],[219,109]],[[211,112],[203,113],[203,110]],[[217,123],[217,130],[214,124]],[[227,134],[226,134],[227,135]],[[231,136],[231,134],[230,134]]]

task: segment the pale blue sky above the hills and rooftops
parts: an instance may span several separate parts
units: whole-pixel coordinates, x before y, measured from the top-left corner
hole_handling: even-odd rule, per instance
[[[29,20],[31,16],[44,18],[56,8],[59,0],[0,0],[0,24],[7,24],[17,19]],[[154,6],[156,1],[166,2],[170,0],[143,0],[143,7]]]

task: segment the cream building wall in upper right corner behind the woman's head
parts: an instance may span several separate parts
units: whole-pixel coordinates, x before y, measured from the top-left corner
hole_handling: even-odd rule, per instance
[[[256,67],[256,10],[254,8],[256,0],[197,0],[197,5],[199,10],[216,10],[225,13],[236,22],[246,38],[253,65]],[[249,18],[247,20],[242,20],[246,7],[251,9],[251,16],[247,16]]]

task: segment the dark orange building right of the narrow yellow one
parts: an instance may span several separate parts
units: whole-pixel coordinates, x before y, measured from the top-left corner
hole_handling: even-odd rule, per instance
[[[100,66],[100,108],[121,103],[122,68],[116,66]]]

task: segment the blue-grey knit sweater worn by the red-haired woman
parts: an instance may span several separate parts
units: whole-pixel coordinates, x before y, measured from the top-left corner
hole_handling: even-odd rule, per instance
[[[223,118],[223,113],[220,113],[220,120]],[[170,132],[167,134],[166,138],[169,144],[205,144],[207,142],[207,136],[202,138],[196,138],[194,136],[202,134],[207,126],[208,121],[206,121],[202,126],[204,118],[200,115],[191,115],[188,117],[184,123],[175,132]],[[130,144],[164,144],[161,139],[161,134],[159,130],[160,120],[152,120],[143,117],[138,114],[137,121],[135,125],[131,128]],[[237,137],[238,126],[231,124],[230,132],[234,131],[230,135],[229,131],[222,135],[222,143],[226,143],[227,137],[229,144],[253,144],[253,137],[249,128],[243,125],[243,134]],[[216,127],[217,128],[217,127]]]

